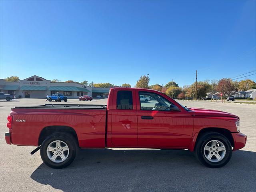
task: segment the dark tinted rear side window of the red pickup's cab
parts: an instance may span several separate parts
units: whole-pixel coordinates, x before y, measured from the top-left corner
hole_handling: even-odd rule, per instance
[[[116,109],[132,109],[132,91],[118,91]]]

